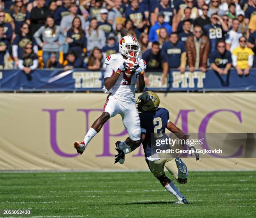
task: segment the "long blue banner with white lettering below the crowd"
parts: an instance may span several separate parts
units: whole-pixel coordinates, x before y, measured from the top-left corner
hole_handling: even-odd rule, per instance
[[[2,70],[0,91],[96,91],[104,85],[103,71],[34,70],[26,75],[22,70]],[[170,70],[162,84],[161,72],[147,72],[146,90],[152,91],[256,91],[256,69],[247,76],[239,76],[236,70],[219,75],[213,70],[206,73]]]

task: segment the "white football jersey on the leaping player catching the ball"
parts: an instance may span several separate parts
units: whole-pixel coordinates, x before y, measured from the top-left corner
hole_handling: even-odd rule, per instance
[[[124,61],[125,59],[121,54],[108,55],[105,59],[106,70],[104,78],[111,77],[123,64]],[[112,93],[113,96],[121,98],[123,100],[134,100],[135,87],[138,81],[138,75],[141,72],[144,72],[144,70],[146,69],[145,60],[137,58],[137,62],[139,63],[139,68],[136,70],[136,73],[134,73],[130,78],[127,78],[125,73],[121,72],[115,85],[113,85],[113,87],[110,90],[107,90],[104,86],[103,91],[105,93]]]

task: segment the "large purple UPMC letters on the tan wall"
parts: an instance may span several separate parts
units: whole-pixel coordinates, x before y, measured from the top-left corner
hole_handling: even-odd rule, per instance
[[[78,154],[77,153],[73,153],[73,154],[68,154],[68,153],[64,153],[63,151],[61,151],[61,149],[59,148],[59,145],[57,143],[57,114],[58,113],[65,113],[64,109],[43,109],[42,111],[44,112],[48,112],[49,113],[49,129],[50,129],[50,144],[51,144],[51,148],[54,150],[54,152],[62,157],[65,158],[73,158],[76,157]],[[99,115],[102,111],[102,109],[77,109],[77,112],[79,113],[84,113],[85,115],[85,120],[86,120],[86,132],[89,130],[90,125],[89,125],[89,117],[90,117],[90,113],[91,112],[95,112],[98,111]],[[181,120],[181,129],[185,132],[188,133],[188,126],[189,126],[189,122],[188,122],[188,116],[190,113],[195,113],[196,110],[180,110],[177,118],[174,122],[174,124],[177,124],[179,122],[179,120]],[[207,138],[206,137],[206,129],[208,124],[210,123],[210,120],[217,114],[219,113],[230,113],[234,116],[234,119],[237,120],[237,123],[242,123],[242,117],[241,117],[241,111],[235,111],[235,110],[230,110],[230,109],[219,109],[219,110],[213,110],[210,113],[208,113],[207,115],[204,116],[204,118],[202,118],[200,125],[198,127],[198,137],[199,138]],[[101,154],[96,155],[96,157],[111,157],[114,156],[113,154],[110,153],[110,138],[111,137],[123,137],[126,138],[127,135],[127,131],[125,130],[125,128],[123,128],[120,133],[116,133],[116,134],[111,134],[110,133],[110,122],[111,120],[108,120],[105,125],[103,126],[102,130],[103,131],[103,152]],[[121,129],[121,123],[119,123],[118,125],[120,125],[120,129]],[[240,157],[241,153],[242,153],[242,149],[245,146],[245,144],[242,144],[240,146],[240,148],[238,148],[237,150],[232,150],[231,153],[229,153],[228,155],[226,154],[225,156],[222,155],[218,155],[218,154],[210,154],[210,156],[215,157],[215,158],[234,158],[234,157]],[[204,141],[203,145],[202,145],[203,149],[206,150],[210,150],[210,148],[207,145],[207,142]],[[143,153],[141,152],[141,149],[138,150],[138,152],[135,152],[135,154],[133,155],[134,157],[138,157],[138,156],[143,156]],[[184,155],[182,155],[184,156]]]

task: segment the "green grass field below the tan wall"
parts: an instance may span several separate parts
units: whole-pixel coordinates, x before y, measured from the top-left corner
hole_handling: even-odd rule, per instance
[[[148,172],[0,173],[0,209],[31,208],[29,217],[256,217],[256,171],[189,172],[177,186],[188,205],[173,204]]]

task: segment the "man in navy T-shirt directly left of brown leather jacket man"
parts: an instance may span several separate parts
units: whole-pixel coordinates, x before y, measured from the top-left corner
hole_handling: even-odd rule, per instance
[[[161,54],[167,54],[169,68],[177,68],[181,73],[186,69],[186,48],[184,43],[179,41],[177,33],[171,33],[169,42],[164,42]]]

